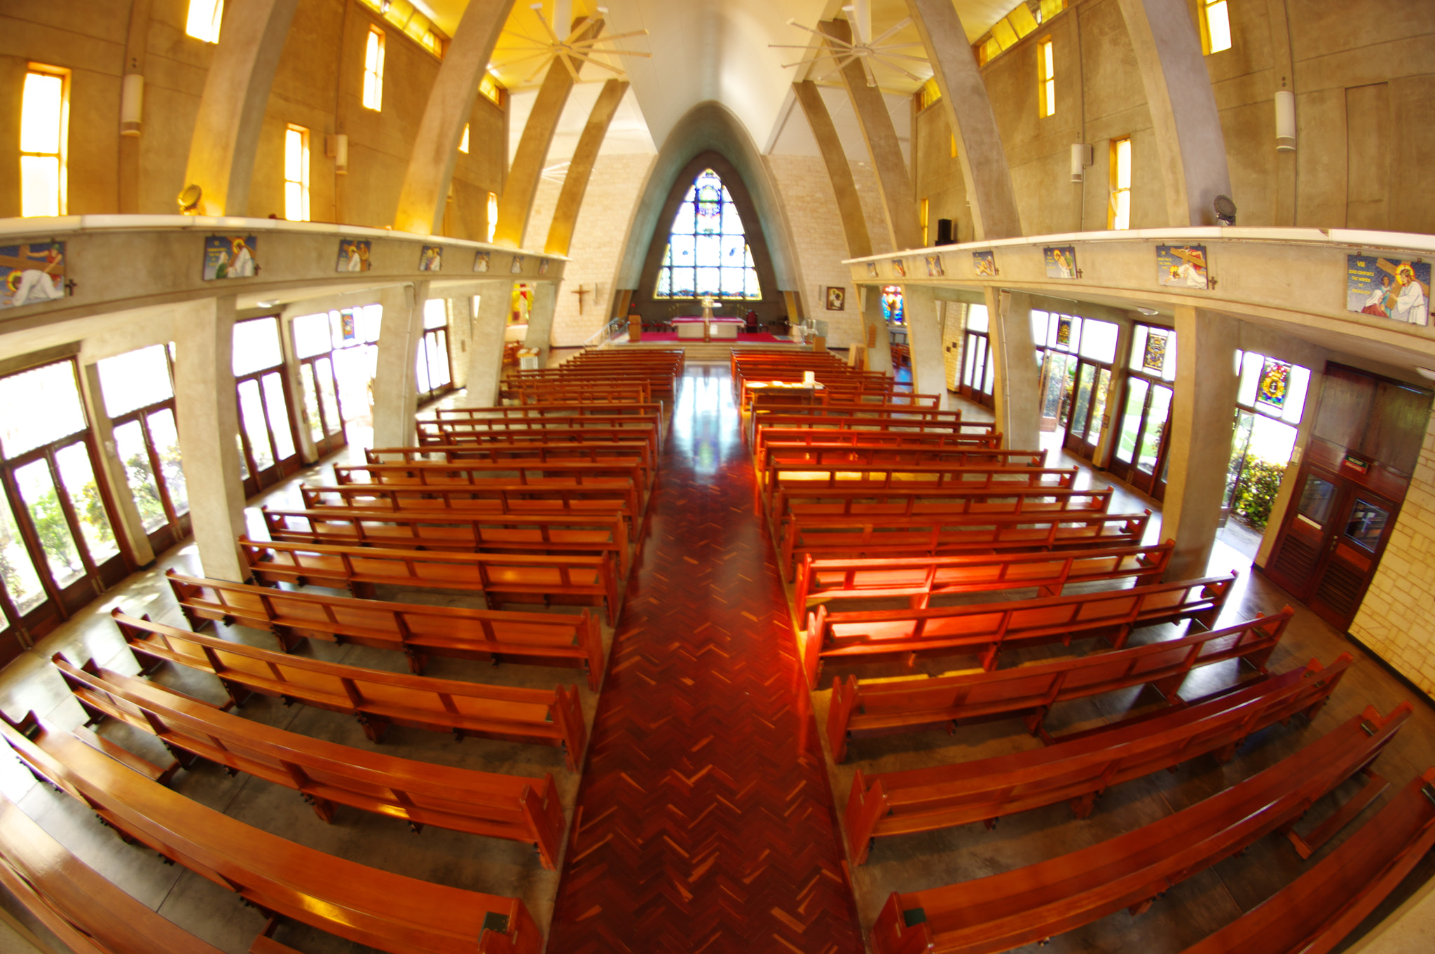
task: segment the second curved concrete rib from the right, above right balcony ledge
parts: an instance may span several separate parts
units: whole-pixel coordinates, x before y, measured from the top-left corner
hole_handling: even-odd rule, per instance
[[[907,11],[927,47],[951,132],[961,143],[957,161],[971,204],[974,241],[1015,238],[1022,234],[1022,218],[1016,211],[1006,149],[961,19],[951,0],[907,0]],[[1190,20],[1190,14],[1184,16]]]

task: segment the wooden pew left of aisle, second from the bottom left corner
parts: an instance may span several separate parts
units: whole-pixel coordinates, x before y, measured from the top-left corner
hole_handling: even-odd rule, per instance
[[[291,918],[392,954],[538,954],[522,901],[436,885],[304,848],[172,792],[27,717],[0,736],[42,780],[90,806],[123,838]],[[152,948],[151,948],[152,950]]]

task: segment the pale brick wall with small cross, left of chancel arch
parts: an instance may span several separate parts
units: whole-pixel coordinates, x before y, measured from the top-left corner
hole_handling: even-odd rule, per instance
[[[613,303],[613,275],[623,255],[623,241],[627,238],[629,221],[647,171],[651,155],[600,155],[593,166],[593,178],[583,197],[583,208],[573,231],[573,247],[568,250],[567,270],[558,287],[558,306],[552,316],[554,346],[577,346],[603,327]],[[524,248],[544,247],[548,227],[552,224],[552,209],[558,202],[563,185],[541,179],[534,197],[532,215],[524,234]],[[578,287],[587,288],[583,296],[583,314],[578,314]]]

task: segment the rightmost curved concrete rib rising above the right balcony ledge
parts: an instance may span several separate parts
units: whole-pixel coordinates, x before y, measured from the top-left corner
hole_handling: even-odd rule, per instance
[[[1211,204],[1217,195],[1231,194],[1231,172],[1191,10],[1185,0],[1118,3],[1151,110],[1167,198],[1164,224],[1215,225]]]

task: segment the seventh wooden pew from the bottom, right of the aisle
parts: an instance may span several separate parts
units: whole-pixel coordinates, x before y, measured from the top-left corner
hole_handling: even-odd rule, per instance
[[[788,521],[779,548],[788,580],[796,561],[841,557],[943,557],[970,552],[1139,547],[1151,511],[818,516]]]

